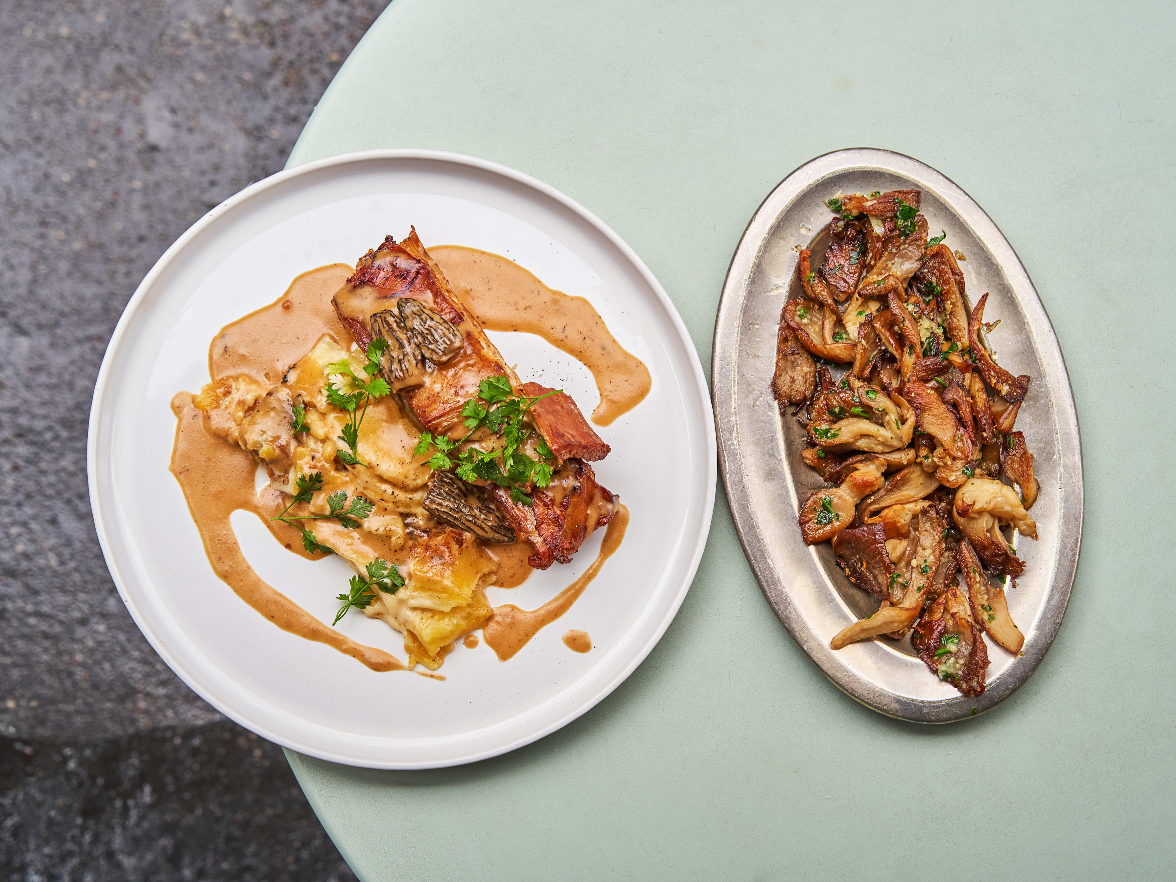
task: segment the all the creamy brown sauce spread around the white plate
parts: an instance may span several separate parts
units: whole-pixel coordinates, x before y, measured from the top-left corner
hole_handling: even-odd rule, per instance
[[[548,288],[522,267],[496,254],[459,246],[443,246],[430,254],[485,327],[537,334],[592,370],[601,394],[601,402],[593,413],[593,421],[597,425],[613,422],[649,393],[650,377],[646,366],[621,347],[587,300]],[[226,325],[208,349],[212,379],[247,374],[265,385],[276,385],[290,365],[306,355],[323,334],[348,349],[352,338],[339,321],[332,298],[352,272],[352,267],[345,263],[312,269],[298,276],[273,303]],[[310,560],[323,555],[307,554],[298,530],[270,520],[286,505],[282,494],[269,486],[255,490],[258,466],[254,459],[211,432],[192,399],[189,393],[182,392],[172,401],[178,425],[171,470],[180,482],[216,576],[286,632],[326,643],[373,670],[407,669],[389,653],[359,643],[319,621],[253,570],[229,522],[233,512],[240,509],[256,514],[290,552]],[[621,506],[606,530],[599,556],[588,570],[539,609],[528,612],[513,604],[495,608],[482,633],[500,660],[514,656],[540,629],[575,603],[621,544],[628,521],[629,512]],[[316,527],[323,523],[319,522]],[[326,528],[330,527],[326,524]],[[355,533],[343,528],[339,532]],[[373,544],[369,549],[372,556],[385,560],[401,561],[407,552],[406,548],[394,554],[390,548],[382,547],[386,544],[382,537],[367,534],[333,539]],[[494,584],[500,588],[517,587],[532,573],[527,562],[532,552],[526,543],[487,544],[483,552],[497,564]],[[563,641],[575,652],[592,649],[592,639],[583,632],[569,630]],[[479,646],[477,636],[466,635],[463,644],[475,648]],[[445,679],[428,671],[420,673],[436,680]]]

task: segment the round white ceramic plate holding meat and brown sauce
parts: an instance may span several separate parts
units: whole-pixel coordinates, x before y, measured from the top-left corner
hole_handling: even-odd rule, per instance
[[[594,463],[629,507],[621,548],[579,602],[509,662],[485,642],[459,647],[436,682],[376,674],[334,649],[269,624],[213,574],[168,472],[168,402],[208,381],[219,328],[272,302],[298,274],[354,263],[386,234],[415,225],[426,247],[503,254],[547,285],[586,296],[648,366],[648,397],[599,432]],[[539,338],[492,334],[524,380],[566,389],[590,413],[595,383]],[[650,456],[649,452],[656,455]],[[89,493],[99,541],[131,615],[163,660],[242,726],[312,756],[370,768],[428,768],[512,750],[608,695],[669,626],[694,579],[710,526],[716,454],[697,354],[666,292],[633,250],[581,206],[519,172],[456,154],[373,151],[334,156],[248,187],[185,233],[147,274],[115,328],[89,422]],[[262,579],[329,622],[349,570],[305,561],[261,522],[233,516]],[[602,533],[602,532],[600,532]],[[494,604],[534,609],[596,556],[600,533],[573,563],[536,572]],[[383,622],[348,615],[340,629],[403,657]],[[579,628],[580,655],[561,635]]]

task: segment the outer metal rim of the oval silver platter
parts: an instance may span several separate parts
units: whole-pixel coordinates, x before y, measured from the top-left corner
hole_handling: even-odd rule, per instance
[[[997,265],[1010,275],[1010,287],[1025,313],[1030,332],[1040,345],[1042,362],[1047,373],[1064,380],[1057,383],[1061,395],[1050,388],[1057,419],[1060,472],[1063,479],[1061,523],[1069,532],[1060,530],[1057,570],[1047,589],[1041,619],[1034,635],[1023,649],[1024,664],[998,676],[989,683],[978,699],[955,695],[938,701],[917,701],[874,686],[860,676],[849,663],[841,661],[828,649],[824,641],[816,637],[797,615],[788,599],[788,583],[771,562],[767,543],[759,530],[759,519],[750,510],[747,474],[742,468],[742,449],[739,440],[739,400],[736,395],[739,335],[747,286],[759,261],[762,246],[771,233],[776,219],[788,205],[803,192],[836,172],[874,168],[908,178],[915,182],[927,181],[938,195],[975,230],[997,259]],[[1014,278],[1015,276],[1015,278]],[[1022,296],[1022,292],[1025,296]],[[1041,330],[1048,333],[1041,334]],[[766,379],[764,382],[768,382]],[[1062,386],[1064,385],[1064,389]],[[996,222],[969,196],[962,187],[943,173],[913,156],[876,147],[850,147],[823,153],[797,166],[786,175],[753,213],[739,245],[731,255],[727,276],[723,280],[719,312],[715,316],[715,342],[711,350],[711,400],[715,413],[715,430],[719,436],[720,472],[730,502],[731,516],[739,534],[743,554],[755,574],[756,582],[771,610],[806,655],[843,693],[866,707],[886,716],[920,723],[949,723],[976,716],[991,709],[1020,689],[1045,657],[1062,617],[1069,604],[1074,579],[1077,572],[1082,543],[1083,521],[1083,473],[1082,441],[1078,432],[1077,408],[1061,343],[1053,322],[1045,313],[1037,288],[1025,270],[1013,245]],[[771,589],[775,589],[775,595]],[[779,602],[776,600],[779,597]]]

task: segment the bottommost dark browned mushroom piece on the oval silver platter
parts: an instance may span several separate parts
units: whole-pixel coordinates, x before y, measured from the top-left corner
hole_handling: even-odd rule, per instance
[[[963,695],[984,694],[988,647],[956,586],[948,587],[923,614],[910,642],[940,680]]]

